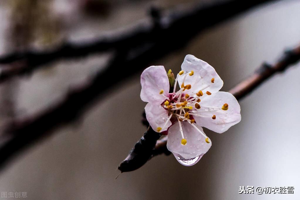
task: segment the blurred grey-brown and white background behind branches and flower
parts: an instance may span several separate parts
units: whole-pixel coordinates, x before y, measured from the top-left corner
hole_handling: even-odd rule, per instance
[[[105,9],[94,14],[86,12],[92,8],[83,8],[82,1],[34,2],[0,2],[1,54],[16,48],[52,48],[66,38],[96,37],[134,25],[147,17],[153,4],[172,8],[189,1],[104,1]],[[178,72],[184,56],[193,54],[210,63],[224,81],[222,90],[229,90],[263,61],[276,60],[286,47],[300,42],[299,10],[300,1],[295,0],[263,4],[207,29],[186,48],[152,65]],[[63,98],[72,84],[104,66],[109,57],[58,60],[4,82],[0,125]],[[28,199],[300,198],[299,64],[242,99],[239,124],[223,134],[205,130],[212,146],[196,165],[185,167],[172,154],[161,155],[115,179],[117,166],[146,130],[140,122],[146,105],[140,99],[140,73],[99,97],[81,120],[14,157],[0,172],[0,191],[26,191]],[[238,194],[239,186],[247,185],[295,190]]]

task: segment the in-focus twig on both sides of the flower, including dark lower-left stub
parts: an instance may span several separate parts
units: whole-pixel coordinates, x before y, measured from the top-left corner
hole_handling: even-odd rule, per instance
[[[300,60],[300,45],[294,49],[285,51],[284,54],[280,57],[280,59],[278,59],[278,61],[275,62],[274,64],[263,63],[253,73],[253,75],[249,76],[249,78],[237,84],[235,87],[229,90],[229,93],[232,93],[237,100],[240,100],[241,98],[247,96],[252,90],[256,89],[260,84],[262,84],[268,78],[272,77],[277,72],[284,71],[289,66],[298,62],[299,60]],[[148,128],[148,131],[145,133],[145,135],[148,136],[148,132],[149,135],[154,135],[153,137],[156,137],[156,134],[158,134],[155,131],[153,131],[151,127]],[[144,137],[142,137],[142,139]],[[136,148],[138,148],[138,150],[135,150]],[[158,140],[155,145],[155,148],[152,149],[150,148],[152,147],[145,146],[142,149],[142,147],[140,147],[138,142],[134,146],[134,148],[129,152],[125,160],[119,165],[118,169],[121,172],[130,172],[143,166],[153,156],[160,155],[160,154],[170,155],[170,151],[168,151],[167,149],[167,136],[162,138],[161,140]],[[137,152],[139,152],[140,154],[137,154]]]

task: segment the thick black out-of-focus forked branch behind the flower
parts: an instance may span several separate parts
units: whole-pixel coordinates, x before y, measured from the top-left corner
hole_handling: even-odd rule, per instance
[[[58,58],[78,57],[106,50],[115,52],[113,59],[104,69],[90,79],[72,87],[61,101],[55,102],[41,112],[10,121],[5,129],[5,136],[8,139],[5,142],[2,141],[0,147],[0,165],[4,166],[6,161],[17,151],[30,145],[33,141],[51,134],[59,125],[78,119],[78,116],[87,110],[98,96],[110,89],[109,87],[134,75],[134,72],[145,68],[153,60],[182,48],[199,31],[266,1],[235,0],[216,5],[193,6],[183,11],[172,10],[165,16],[162,16],[159,10],[152,9],[151,22],[139,25],[118,37],[108,37],[110,39],[101,39],[98,42],[95,40],[85,41],[88,43],[87,45],[85,42],[81,43],[82,45],[67,44],[49,52],[29,51],[2,57],[0,59],[2,63],[10,63],[10,66],[2,68],[2,78],[0,79],[4,80],[16,74],[32,71],[39,65]],[[299,57],[299,54],[296,54],[297,56]],[[289,63],[286,63],[286,66],[292,63],[291,60],[287,61]],[[108,75],[114,78],[109,85],[107,85]],[[257,81],[255,83],[259,84]],[[253,88],[258,84],[253,85]],[[107,87],[103,87],[104,85]],[[100,87],[101,90],[99,90]],[[152,155],[160,153],[159,148],[152,151]]]

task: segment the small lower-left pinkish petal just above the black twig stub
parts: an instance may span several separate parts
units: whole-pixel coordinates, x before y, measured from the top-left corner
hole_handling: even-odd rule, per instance
[[[165,110],[160,104],[148,103],[145,107],[145,111],[146,118],[154,131],[163,132],[166,131],[170,125],[172,125],[170,120],[167,122],[169,117],[168,110]]]

